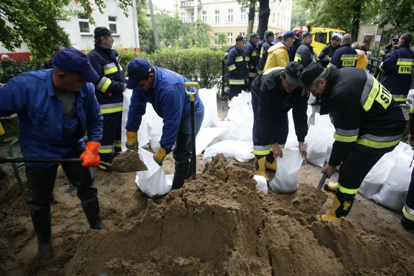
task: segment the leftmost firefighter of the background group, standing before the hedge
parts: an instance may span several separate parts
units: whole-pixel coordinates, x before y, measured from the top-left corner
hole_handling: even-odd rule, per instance
[[[242,90],[246,90],[249,70],[247,68],[246,56],[244,55],[244,42],[242,35],[236,37],[236,47],[227,55],[227,70],[229,80],[228,101],[237,97]]]

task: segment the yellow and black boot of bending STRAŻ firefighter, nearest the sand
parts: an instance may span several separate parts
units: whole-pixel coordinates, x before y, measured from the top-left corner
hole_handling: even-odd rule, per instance
[[[336,190],[335,197],[333,198],[332,207],[329,212],[323,215],[313,215],[312,219],[316,221],[326,222],[341,222],[341,217],[345,217],[349,214],[354,202],[355,195],[346,196],[344,193]]]

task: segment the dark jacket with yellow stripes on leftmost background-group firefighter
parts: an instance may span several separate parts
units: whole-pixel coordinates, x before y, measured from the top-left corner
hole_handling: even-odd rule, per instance
[[[230,85],[247,85],[249,69],[243,50],[237,47],[230,50],[227,55],[227,70]]]

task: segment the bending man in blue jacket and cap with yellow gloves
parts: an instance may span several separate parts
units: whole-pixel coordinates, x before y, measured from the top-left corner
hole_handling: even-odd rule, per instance
[[[127,141],[130,150],[138,148],[139,125],[145,114],[147,103],[153,105],[156,114],[163,118],[160,148],[154,154],[154,160],[162,165],[165,156],[173,150],[175,172],[172,190],[180,189],[184,180],[190,176],[191,113],[190,97],[185,91],[189,80],[182,75],[152,66],[144,58],[135,58],[128,64],[128,89],[132,90],[131,103],[126,122]],[[201,128],[204,118],[204,105],[198,94],[195,96],[195,132]],[[192,165],[192,164],[191,164]]]

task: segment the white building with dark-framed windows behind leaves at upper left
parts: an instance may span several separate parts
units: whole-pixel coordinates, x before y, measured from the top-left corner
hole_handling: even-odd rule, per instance
[[[70,20],[58,20],[58,25],[61,26],[69,35],[72,46],[79,50],[91,50],[94,48],[93,31],[96,27],[104,26],[115,33],[114,47],[118,48],[139,48],[138,38],[138,24],[136,7],[128,7],[128,17],[123,14],[123,11],[118,7],[117,0],[104,0],[106,8],[103,9],[103,14],[99,12],[98,7],[92,7],[92,17],[96,25],[92,25],[87,19],[83,17],[83,10],[75,1],[66,7],[68,10],[77,11],[77,16],[69,17]],[[53,39],[51,37],[51,39]],[[64,45],[67,46],[67,45]],[[10,53],[2,45],[0,45],[0,53]],[[28,48],[22,45],[20,49],[14,49],[9,54],[10,56],[29,56]]]

